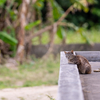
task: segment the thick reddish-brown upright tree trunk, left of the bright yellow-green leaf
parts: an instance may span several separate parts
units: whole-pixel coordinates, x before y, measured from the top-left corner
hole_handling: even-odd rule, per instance
[[[26,18],[27,18],[27,13],[28,13],[28,7],[29,7],[30,0],[23,0],[22,4],[19,9],[19,24],[16,27],[16,36],[18,39],[18,48],[17,48],[17,54],[16,58],[17,60],[22,63],[23,58],[24,58],[24,42],[25,42],[25,30],[24,27],[26,25]]]

